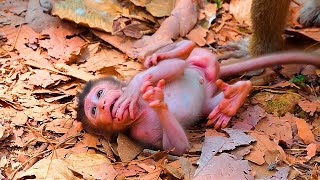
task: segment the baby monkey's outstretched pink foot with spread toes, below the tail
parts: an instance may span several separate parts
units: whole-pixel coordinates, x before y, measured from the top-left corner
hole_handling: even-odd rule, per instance
[[[231,117],[237,113],[251,91],[252,84],[250,81],[239,81],[236,84],[228,85],[220,79],[216,84],[223,92],[224,98],[209,114],[207,125],[214,125],[215,129],[219,129],[225,128]]]

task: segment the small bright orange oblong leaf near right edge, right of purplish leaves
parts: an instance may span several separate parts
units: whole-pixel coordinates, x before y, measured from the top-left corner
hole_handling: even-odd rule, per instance
[[[298,128],[298,136],[303,140],[305,144],[316,142],[314,134],[312,133],[309,124],[300,118],[294,118]]]

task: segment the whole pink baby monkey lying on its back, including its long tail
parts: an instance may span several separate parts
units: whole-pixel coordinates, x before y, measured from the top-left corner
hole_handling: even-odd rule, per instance
[[[209,126],[226,127],[252,88],[250,81],[228,85],[220,77],[289,63],[320,66],[320,57],[282,53],[220,67],[213,53],[184,40],[147,57],[147,69],[128,84],[115,77],[89,81],[78,95],[77,118],[90,132],[127,131],[180,155],[189,148],[184,128],[203,117]]]

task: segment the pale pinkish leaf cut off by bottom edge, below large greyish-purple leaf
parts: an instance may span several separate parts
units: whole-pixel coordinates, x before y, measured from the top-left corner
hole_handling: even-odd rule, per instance
[[[213,156],[208,163],[197,171],[194,180],[203,179],[254,179],[251,167],[246,160],[236,160],[227,153]]]

